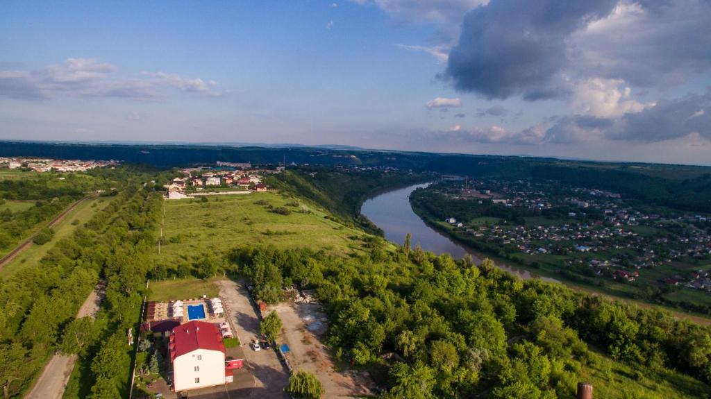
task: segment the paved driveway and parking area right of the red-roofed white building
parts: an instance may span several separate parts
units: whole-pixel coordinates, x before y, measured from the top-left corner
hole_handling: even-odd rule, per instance
[[[231,280],[215,281],[220,297],[228,305],[237,337],[245,349],[245,369],[253,376],[253,388],[240,392],[240,398],[289,398],[284,388],[289,385],[289,374],[273,350],[252,351],[249,344],[259,338],[260,321],[250,302],[244,283]]]

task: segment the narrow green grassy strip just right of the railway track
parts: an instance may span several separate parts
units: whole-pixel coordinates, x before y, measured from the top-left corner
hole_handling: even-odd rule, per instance
[[[16,256],[10,263],[6,264],[4,268],[0,269],[0,277],[7,278],[14,273],[17,273],[18,270],[37,266],[40,259],[46,255],[54,243],[70,236],[77,226],[88,222],[97,210],[103,209],[108,203],[109,200],[105,198],[96,198],[85,200],[84,202],[78,204],[77,207],[72,209],[72,211],[69,212],[61,222],[53,227],[55,234],[52,241],[44,245],[32,244],[29,248]],[[75,220],[78,222],[74,223]]]

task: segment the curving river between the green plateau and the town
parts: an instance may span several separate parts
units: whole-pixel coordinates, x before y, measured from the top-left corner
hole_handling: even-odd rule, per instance
[[[439,231],[427,226],[422,219],[412,211],[410,206],[410,193],[420,187],[427,187],[429,183],[411,185],[377,195],[363,203],[360,213],[364,214],[371,222],[385,231],[385,238],[402,245],[407,233],[412,234],[412,246],[419,244],[425,251],[437,253],[449,253],[454,258],[461,258],[465,253],[469,253],[476,263],[486,258],[485,255],[457,244],[449,237],[439,233]],[[553,281],[552,278],[542,277],[530,273],[528,270],[512,267],[502,263],[494,262],[496,267],[506,270],[522,278],[541,278],[542,280]]]

